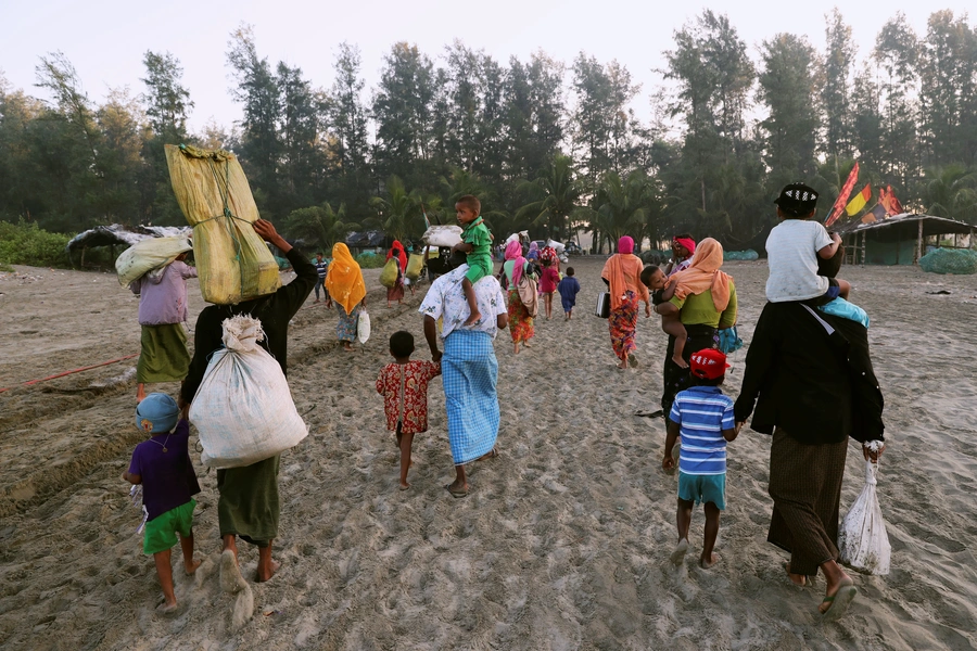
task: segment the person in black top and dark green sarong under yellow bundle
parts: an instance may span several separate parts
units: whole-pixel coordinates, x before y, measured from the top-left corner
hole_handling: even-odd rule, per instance
[[[230,317],[249,315],[261,321],[265,331],[262,346],[288,376],[289,321],[312,293],[316,283],[316,268],[276,232],[270,221],[258,219],[254,222],[254,230],[286,255],[296,277],[271,294],[242,301],[237,305],[211,305],[200,312],[194,333],[193,360],[181,388],[181,407],[193,401],[207,370],[211,354],[224,345],[223,323]],[[258,582],[268,580],[278,569],[278,563],[271,560],[271,542],[278,537],[280,460],[281,455],[275,455],[251,465],[217,471],[217,522],[224,540],[220,575],[225,589],[233,585],[233,573],[238,572],[238,536],[258,548]]]

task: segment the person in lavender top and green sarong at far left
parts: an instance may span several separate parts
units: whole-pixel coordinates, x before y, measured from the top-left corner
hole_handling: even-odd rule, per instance
[[[188,251],[189,251],[189,244]],[[152,382],[179,382],[187,376],[190,349],[187,347],[187,279],[196,278],[187,252],[162,269],[154,269],[129,283],[139,295],[141,350],[136,365],[136,401],[145,398],[145,385]]]

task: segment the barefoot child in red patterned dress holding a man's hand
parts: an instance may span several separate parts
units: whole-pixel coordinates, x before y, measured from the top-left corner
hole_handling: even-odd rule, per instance
[[[390,354],[396,361],[381,369],[377,393],[383,396],[386,429],[397,433],[401,490],[407,490],[410,447],[415,434],[428,431],[428,383],[441,374],[441,362],[413,361],[414,335],[404,330],[390,335]]]

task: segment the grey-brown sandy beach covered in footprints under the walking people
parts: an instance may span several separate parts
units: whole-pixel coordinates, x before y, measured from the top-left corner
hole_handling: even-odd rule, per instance
[[[846,267],[886,397],[889,447],[878,494],[892,544],[885,577],[854,575],[849,614],[822,623],[814,587],[794,587],[765,541],[770,438],[744,430],[728,447],[727,509],[711,570],[696,564],[703,518],[678,567],[676,476],[660,468],[658,409],[665,335],[642,317],[637,369],[618,371],[607,322],[593,316],[600,257],[575,257],[583,291],[570,322],[537,320],[534,346],[496,341],[500,455],[470,467],[453,499],[441,381],[415,438],[413,487],[375,390],[391,333],[415,334],[428,284],[386,308],[379,270],[365,272],[372,339],[343,353],[334,310],[310,296],[292,322],[289,381],[309,436],[284,454],[275,553],[254,584],[254,616],[232,622],[218,586],[213,471],[191,454],[203,493],[194,533],[204,564],[182,574],[174,551],[173,616],[140,512],[120,480],[134,446],[136,358],[23,383],[139,352],[138,298],[113,273],[16,267],[0,275],[0,648],[3,649],[975,649],[977,648],[977,277]],[[766,265],[727,263],[749,343]],[[283,281],[292,278],[286,273]],[[190,285],[190,327],[204,307]],[[949,292],[938,293],[938,292]],[[191,337],[192,339],[192,337]],[[745,350],[725,391],[736,396]],[[176,384],[152,385],[176,393]],[[191,437],[191,444],[195,436]],[[842,514],[864,467],[849,448]]]

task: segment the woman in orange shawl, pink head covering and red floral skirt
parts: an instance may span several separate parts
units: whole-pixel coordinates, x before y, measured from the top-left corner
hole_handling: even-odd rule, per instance
[[[610,292],[611,314],[607,323],[610,329],[611,347],[621,361],[619,369],[626,369],[627,362],[635,365],[634,334],[637,330],[638,301],[645,303],[645,316],[651,316],[648,288],[642,283],[642,258],[634,255],[634,240],[624,235],[618,240],[618,253],[607,259],[600,278]]]

